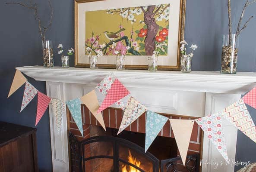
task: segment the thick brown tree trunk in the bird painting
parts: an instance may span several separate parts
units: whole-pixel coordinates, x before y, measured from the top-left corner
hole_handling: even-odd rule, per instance
[[[147,25],[148,32],[145,37],[145,52],[146,55],[152,55],[155,50],[155,36],[158,33],[159,26],[155,22],[153,11],[155,6],[148,6],[144,14],[144,22]]]

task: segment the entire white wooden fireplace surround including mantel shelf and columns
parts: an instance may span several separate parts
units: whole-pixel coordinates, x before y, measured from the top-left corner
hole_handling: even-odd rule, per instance
[[[90,92],[107,75],[115,76],[130,90],[131,95],[149,107],[150,110],[193,117],[204,117],[215,113],[237,101],[241,94],[256,86],[256,73],[238,72],[234,75],[211,71],[148,72],[139,70],[116,71],[113,69],[90,70],[88,68],[60,67],[43,68],[28,66],[17,68],[28,77],[46,81],[47,95],[51,98],[70,100]],[[101,103],[103,96],[98,93]],[[60,135],[57,135],[50,104],[51,150],[54,172],[69,172],[68,138],[66,116]],[[237,129],[227,121],[223,124],[228,147],[228,157],[235,160]],[[202,172],[234,172],[234,165],[222,165],[221,154],[207,137],[203,139]],[[215,165],[205,164],[205,161]],[[218,163],[218,167],[216,167]]]

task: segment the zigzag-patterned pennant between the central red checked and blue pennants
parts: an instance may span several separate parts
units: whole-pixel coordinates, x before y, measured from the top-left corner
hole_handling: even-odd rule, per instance
[[[126,109],[123,114],[119,130],[117,134],[122,132],[127,126],[130,126],[135,120],[137,120],[147,108],[137,101],[134,97],[130,97],[127,102]]]

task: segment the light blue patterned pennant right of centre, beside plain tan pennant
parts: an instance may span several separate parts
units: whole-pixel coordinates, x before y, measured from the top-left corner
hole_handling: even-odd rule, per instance
[[[145,152],[149,149],[167,121],[168,117],[164,117],[149,110],[147,111]]]

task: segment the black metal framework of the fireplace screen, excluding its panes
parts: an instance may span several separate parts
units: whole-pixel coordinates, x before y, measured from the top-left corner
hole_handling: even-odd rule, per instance
[[[107,155],[98,155],[93,157],[85,158],[85,150],[84,147],[86,144],[94,143],[94,142],[111,142],[113,144],[113,156]],[[106,158],[113,160],[114,172],[119,172],[119,162],[127,164],[129,166],[133,166],[134,168],[140,170],[141,172],[145,172],[143,169],[140,169],[136,165],[129,163],[126,160],[120,159],[119,157],[119,148],[120,145],[126,146],[128,149],[136,151],[143,156],[145,156],[149,161],[152,162],[153,172],[176,172],[177,161],[181,160],[180,157],[175,157],[167,160],[158,160],[154,155],[149,152],[145,153],[144,148],[140,147],[137,144],[134,144],[131,141],[127,141],[123,138],[117,138],[112,136],[96,136],[85,139],[83,141],[77,141],[76,137],[70,132],[69,135],[70,142],[70,155],[71,155],[71,172],[86,172],[85,171],[85,161],[98,159],[98,158]],[[75,157],[75,160],[73,160]],[[189,155],[187,156],[188,161],[186,162],[186,169],[189,172],[199,172],[199,154]],[[78,162],[79,161],[79,162]],[[159,170],[159,162],[161,163],[161,168]],[[193,162],[193,166],[189,166],[189,163]],[[74,164],[75,163],[75,164]]]

